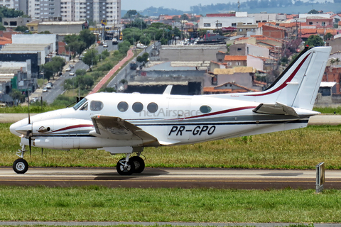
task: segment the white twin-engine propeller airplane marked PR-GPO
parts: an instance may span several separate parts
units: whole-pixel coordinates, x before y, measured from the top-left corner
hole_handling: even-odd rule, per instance
[[[163,94],[97,93],[73,107],[28,116],[10,127],[21,137],[13,170],[28,170],[27,145],[30,151],[33,146],[124,153],[117,172],[131,175],[144,171],[140,155],[145,147],[303,128],[310,116],[320,114],[312,109],[330,50],[305,48],[263,92],[183,96],[171,95],[168,86]]]

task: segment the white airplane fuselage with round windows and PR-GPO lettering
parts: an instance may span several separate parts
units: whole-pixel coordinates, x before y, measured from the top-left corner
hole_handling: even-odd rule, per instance
[[[302,128],[308,117],[257,114],[259,103],[219,96],[97,93],[74,107],[31,116],[11,125],[23,137],[32,131],[33,146],[54,149],[139,147],[140,140],[113,140],[90,135],[92,116],[115,116],[153,135],[160,145],[182,145],[207,140]]]

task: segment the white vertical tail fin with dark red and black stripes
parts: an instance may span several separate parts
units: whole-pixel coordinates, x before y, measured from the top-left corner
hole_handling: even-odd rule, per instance
[[[268,89],[242,96],[246,101],[313,109],[330,51],[330,47],[305,48]]]

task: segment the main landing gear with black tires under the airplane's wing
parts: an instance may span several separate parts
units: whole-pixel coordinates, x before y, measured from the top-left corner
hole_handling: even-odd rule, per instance
[[[144,160],[140,157],[141,153],[137,153],[137,156],[130,157],[130,154],[126,154],[126,157],[117,162],[117,172],[119,175],[132,175],[133,173],[141,173],[144,171]]]

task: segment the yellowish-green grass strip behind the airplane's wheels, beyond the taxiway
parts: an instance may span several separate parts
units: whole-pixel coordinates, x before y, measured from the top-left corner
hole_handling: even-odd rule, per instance
[[[16,160],[20,138],[0,124],[0,166]],[[195,145],[146,148],[147,167],[224,167],[258,169],[310,169],[325,162],[326,169],[341,170],[341,126],[309,126],[292,131],[216,140]],[[50,150],[33,148],[26,155],[38,167],[114,167],[122,155],[104,150]]]

